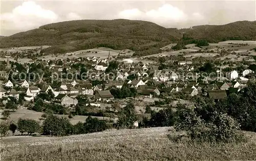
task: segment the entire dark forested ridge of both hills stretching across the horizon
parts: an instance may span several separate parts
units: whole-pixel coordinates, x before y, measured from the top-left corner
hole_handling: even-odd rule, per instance
[[[131,49],[139,56],[156,54],[161,47],[179,40],[256,40],[256,21],[221,26],[167,29],[141,20],[73,20],[58,22],[0,39],[0,48],[52,45],[42,52],[65,53],[96,47]]]

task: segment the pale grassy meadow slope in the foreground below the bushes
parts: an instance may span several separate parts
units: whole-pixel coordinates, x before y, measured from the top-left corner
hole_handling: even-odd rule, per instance
[[[256,134],[247,143],[212,145],[166,137],[168,128],[110,130],[67,137],[9,137],[2,160],[255,160]]]

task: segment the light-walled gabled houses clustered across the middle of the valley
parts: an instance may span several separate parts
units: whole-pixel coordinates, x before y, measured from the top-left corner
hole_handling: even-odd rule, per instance
[[[92,68],[90,71],[101,71],[104,74],[106,68],[108,68],[110,55],[108,59],[99,59],[96,57],[86,58],[91,62]],[[62,61],[62,60],[61,60]],[[65,60],[67,61],[67,60]],[[79,61],[79,60],[78,60]],[[82,61],[82,60],[80,60]],[[202,82],[188,81],[184,76],[179,76],[173,70],[158,70],[157,65],[142,64],[133,65],[131,59],[125,59],[123,65],[119,65],[116,71],[115,80],[106,80],[104,84],[98,84],[93,86],[89,80],[68,80],[61,79],[59,86],[51,86],[47,82],[40,88],[36,86],[34,82],[28,82],[23,80],[15,82],[16,86],[26,88],[26,101],[33,101],[34,98],[40,93],[48,93],[49,90],[54,94],[53,103],[61,104],[63,106],[72,106],[78,103],[76,97],[78,95],[86,95],[90,100],[95,101],[111,101],[114,96],[111,94],[109,88],[115,86],[122,88],[123,85],[131,88],[136,88],[137,93],[144,97],[159,96],[161,93],[177,93],[181,92],[185,95],[196,96],[203,95],[208,96],[216,101],[223,99],[229,93],[238,93],[248,82],[255,82],[254,79],[245,79],[239,77],[237,71],[231,71],[228,73],[228,79],[215,80],[216,83],[210,83],[210,79],[205,77]],[[68,63],[68,62],[67,62]],[[77,62],[69,62],[77,63]],[[179,65],[190,65],[191,61],[181,61]],[[61,72],[63,67],[55,65],[55,63],[47,62],[52,71]],[[71,70],[71,68],[69,68]],[[189,67],[188,71],[193,71],[193,67]],[[220,71],[221,72],[221,71]],[[156,74],[158,73],[158,74]],[[245,70],[242,76],[249,73],[253,73],[251,70]],[[134,75],[135,78],[129,80],[129,76]],[[102,79],[102,75],[96,76],[98,79]],[[211,78],[212,79],[212,78]],[[150,84],[150,85],[149,85]],[[9,90],[0,87],[0,99],[7,99],[9,96],[19,98],[19,92],[14,89],[14,84],[10,80],[3,82],[3,87],[8,87]]]

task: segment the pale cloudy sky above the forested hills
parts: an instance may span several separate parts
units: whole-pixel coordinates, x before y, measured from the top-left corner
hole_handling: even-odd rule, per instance
[[[78,19],[135,19],[166,28],[223,25],[256,20],[256,0],[249,1],[7,1],[0,0],[0,35]]]

